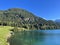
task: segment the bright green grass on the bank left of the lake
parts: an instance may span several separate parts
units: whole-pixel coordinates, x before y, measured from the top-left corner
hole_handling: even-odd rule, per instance
[[[11,28],[10,26],[0,26],[0,45],[8,45],[7,36]]]

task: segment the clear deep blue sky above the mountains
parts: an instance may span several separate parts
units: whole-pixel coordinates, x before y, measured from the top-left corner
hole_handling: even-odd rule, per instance
[[[22,8],[46,20],[60,19],[60,0],[0,0],[0,10]]]

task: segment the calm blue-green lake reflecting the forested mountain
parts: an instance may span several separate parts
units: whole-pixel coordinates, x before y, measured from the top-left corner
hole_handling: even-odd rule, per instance
[[[10,45],[60,45],[60,30],[34,30],[15,32]]]

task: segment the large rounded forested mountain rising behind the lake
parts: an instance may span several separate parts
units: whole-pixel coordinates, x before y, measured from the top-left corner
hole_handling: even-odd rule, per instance
[[[45,30],[60,28],[54,21],[37,17],[25,9],[11,8],[0,10],[0,25],[25,28],[28,30]]]

